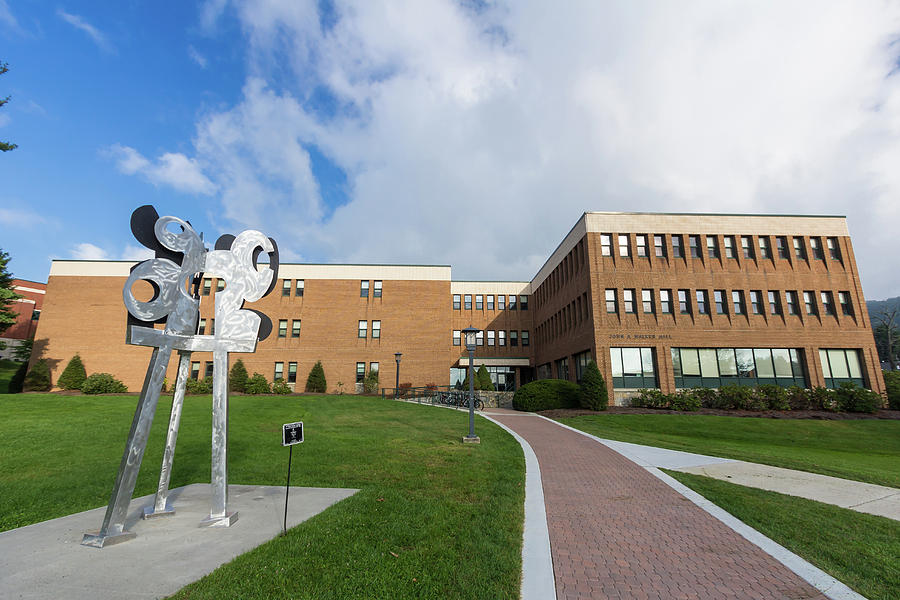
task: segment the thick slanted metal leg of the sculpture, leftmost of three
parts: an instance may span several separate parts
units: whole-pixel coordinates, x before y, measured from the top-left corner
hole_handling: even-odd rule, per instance
[[[147,376],[144,378],[144,387],[141,389],[141,397],[134,411],[134,420],[131,422],[131,431],[128,432],[125,452],[122,454],[122,462],[116,475],[116,483],[109,499],[109,506],[106,507],[106,516],[103,517],[100,531],[84,534],[81,543],[85,546],[102,548],[135,536],[134,533],[125,531],[125,517],[128,514],[128,505],[131,503],[131,496],[137,483],[138,471],[141,469],[144,450],[147,448],[150,426],[153,424],[153,415],[156,413],[159,392],[162,389],[162,382],[165,379],[166,367],[171,355],[171,346],[153,349]]]

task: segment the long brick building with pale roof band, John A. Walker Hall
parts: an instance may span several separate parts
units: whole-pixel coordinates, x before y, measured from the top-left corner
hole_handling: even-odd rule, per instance
[[[140,388],[150,352],[125,345],[121,300],[132,265],[53,262],[36,347],[54,379],[78,351],[88,372]],[[283,264],[279,278],[251,306],[273,332],[242,358],[298,389],[317,360],[329,390],[352,392],[371,369],[393,386],[395,352],[401,383],[454,384],[474,326],[475,364],[501,389],[575,381],[593,359],[618,401],[726,383],[884,391],[844,217],[592,212],[531,281],[453,281],[449,266],[417,265]],[[219,285],[201,286],[201,333],[214,331]],[[211,355],[192,360],[194,376],[211,373]]]

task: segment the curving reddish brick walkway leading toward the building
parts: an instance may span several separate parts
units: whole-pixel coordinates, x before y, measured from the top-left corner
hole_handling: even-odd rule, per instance
[[[826,600],[602,444],[539,417],[492,416],[525,438],[540,463],[559,600]]]

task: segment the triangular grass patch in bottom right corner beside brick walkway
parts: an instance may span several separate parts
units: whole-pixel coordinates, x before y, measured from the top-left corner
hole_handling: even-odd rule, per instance
[[[900,523],[830,504],[666,471],[870,600],[900,598]]]

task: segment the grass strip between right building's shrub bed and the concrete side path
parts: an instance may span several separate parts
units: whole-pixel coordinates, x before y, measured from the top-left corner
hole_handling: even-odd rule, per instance
[[[611,440],[900,487],[900,421],[668,414],[558,420]]]

